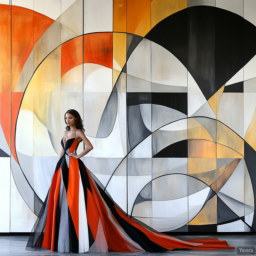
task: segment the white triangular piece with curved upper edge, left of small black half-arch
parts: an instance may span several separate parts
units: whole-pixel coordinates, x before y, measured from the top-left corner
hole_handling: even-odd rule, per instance
[[[151,134],[145,140],[142,140],[135,148],[133,148],[127,157],[151,158],[152,157],[152,136],[151,136]]]

